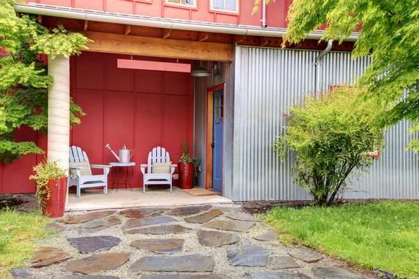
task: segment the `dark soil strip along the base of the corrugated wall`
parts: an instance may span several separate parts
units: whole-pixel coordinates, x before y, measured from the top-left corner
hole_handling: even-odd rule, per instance
[[[332,206],[339,206],[341,204],[372,204],[374,202],[383,202],[391,199],[337,199]],[[399,199],[399,202],[416,202],[419,204],[419,199]],[[295,209],[300,209],[305,206],[316,206],[311,200],[300,200],[300,201],[267,201],[258,200],[251,202],[243,202],[243,210],[251,214],[260,214],[270,211],[276,206],[286,206]]]

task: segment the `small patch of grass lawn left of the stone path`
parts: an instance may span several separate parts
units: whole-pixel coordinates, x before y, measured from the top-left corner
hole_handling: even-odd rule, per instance
[[[34,241],[50,235],[42,226],[50,223],[41,213],[0,211],[0,278],[9,278],[13,267],[21,267],[33,254]]]

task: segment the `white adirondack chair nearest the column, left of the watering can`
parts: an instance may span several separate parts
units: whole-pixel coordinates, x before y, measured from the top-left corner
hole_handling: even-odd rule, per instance
[[[87,162],[86,167],[71,167],[71,163]],[[103,169],[103,174],[92,175],[91,167]],[[108,174],[112,166],[110,165],[90,165],[86,152],[78,146],[70,147],[70,167],[68,173],[68,186],[77,186],[77,197],[80,197],[82,188],[103,186],[103,194],[108,194]],[[75,170],[76,176],[73,177],[71,170]]]

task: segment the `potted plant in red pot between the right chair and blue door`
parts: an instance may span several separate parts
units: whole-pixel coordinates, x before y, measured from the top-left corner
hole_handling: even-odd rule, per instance
[[[177,169],[179,169],[179,188],[191,189],[196,186],[198,182],[198,172],[200,172],[200,162],[198,158],[191,158],[189,156],[189,142],[181,142],[182,156],[177,162]]]

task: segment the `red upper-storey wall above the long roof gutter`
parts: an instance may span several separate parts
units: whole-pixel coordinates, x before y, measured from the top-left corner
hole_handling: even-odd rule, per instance
[[[220,22],[260,26],[262,7],[251,15],[254,0],[240,0],[239,13],[220,13],[210,10],[210,0],[196,0],[197,7],[179,7],[166,4],[165,0],[28,0],[48,5],[106,10],[115,13],[148,15],[153,17],[177,18],[204,22]],[[267,6],[267,25],[269,27],[286,27],[286,15],[292,0],[278,0]],[[90,27],[89,27],[90,28]]]

